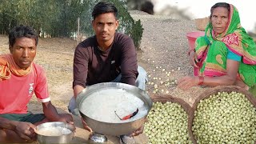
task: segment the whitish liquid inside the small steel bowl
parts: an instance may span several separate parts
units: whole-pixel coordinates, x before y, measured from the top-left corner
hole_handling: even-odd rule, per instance
[[[72,131],[70,129],[67,129],[66,127],[44,127],[40,130],[38,130],[38,134],[46,135],[46,136],[61,136],[65,134],[70,134]]]

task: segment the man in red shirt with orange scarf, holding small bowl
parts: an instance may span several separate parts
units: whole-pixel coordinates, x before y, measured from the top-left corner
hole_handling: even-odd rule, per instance
[[[0,55],[0,143],[33,142],[34,128],[43,122],[69,122],[70,114],[58,114],[51,104],[46,73],[33,62],[38,34],[29,26],[16,26],[9,34],[10,54]],[[27,110],[35,94],[44,114]]]

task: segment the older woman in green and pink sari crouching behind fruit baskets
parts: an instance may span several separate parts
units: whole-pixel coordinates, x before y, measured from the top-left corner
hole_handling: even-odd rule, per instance
[[[178,80],[178,87],[235,85],[248,90],[256,83],[255,42],[240,24],[238,10],[226,2],[210,9],[204,37],[190,50],[194,76]]]

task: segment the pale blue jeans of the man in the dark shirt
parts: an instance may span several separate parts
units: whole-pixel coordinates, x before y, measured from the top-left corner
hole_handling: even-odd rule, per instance
[[[118,77],[115,78],[111,82],[120,82],[121,77],[122,77],[122,75],[119,74]],[[147,82],[146,70],[144,70],[141,66],[138,66],[138,77],[135,81],[135,86],[137,86],[138,88],[140,88],[142,90],[145,90],[146,82]],[[70,99],[68,109],[69,109],[70,113],[77,115],[77,116],[80,115],[79,110],[77,109],[77,105],[76,105],[74,96]]]

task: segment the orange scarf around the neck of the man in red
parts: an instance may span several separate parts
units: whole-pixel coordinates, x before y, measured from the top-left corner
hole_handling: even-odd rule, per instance
[[[32,66],[32,65],[31,65]],[[0,55],[0,82],[9,79],[11,74],[18,77],[30,74],[31,66],[22,70],[15,62],[12,54]]]

